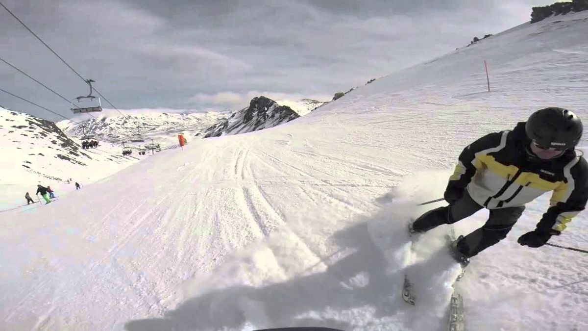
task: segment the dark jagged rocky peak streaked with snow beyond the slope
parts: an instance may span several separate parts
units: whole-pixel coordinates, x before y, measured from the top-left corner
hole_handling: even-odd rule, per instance
[[[248,133],[286,123],[300,117],[292,108],[280,106],[266,97],[255,97],[249,107],[233,113],[228,119],[206,129],[205,138]]]

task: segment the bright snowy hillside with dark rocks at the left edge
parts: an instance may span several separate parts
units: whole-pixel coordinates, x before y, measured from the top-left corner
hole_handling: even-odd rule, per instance
[[[74,190],[74,183],[65,183],[69,178],[88,184],[143,158],[123,157],[121,147],[103,142],[82,149],[79,139],[68,138],[51,121],[5,108],[0,108],[0,146],[1,210],[21,206],[39,183],[63,193]]]

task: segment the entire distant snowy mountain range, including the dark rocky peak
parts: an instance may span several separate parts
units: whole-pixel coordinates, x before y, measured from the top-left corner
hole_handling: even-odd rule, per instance
[[[163,147],[177,144],[178,133],[183,133],[188,140],[203,138],[205,135],[212,137],[215,130],[219,128],[223,128],[225,134],[247,133],[285,123],[325,104],[325,102],[311,99],[280,100],[276,102],[278,108],[275,108],[271,104],[275,101],[270,102],[266,99],[270,100],[265,97],[253,98],[248,107],[232,114],[212,111],[190,114],[133,112],[125,115],[101,115],[98,113],[95,114],[96,118],[81,121],[79,125],[68,120],[59,121],[57,125],[69,137],[81,138],[93,135],[98,140],[113,144],[138,138],[149,142],[153,139],[162,143]],[[259,102],[265,102],[263,107],[270,109],[258,111],[258,107],[262,107],[257,105]],[[289,110],[286,110],[286,107]],[[253,119],[253,117],[256,118]]]

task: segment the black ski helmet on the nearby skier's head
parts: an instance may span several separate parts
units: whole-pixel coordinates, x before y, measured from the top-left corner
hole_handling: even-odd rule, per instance
[[[530,115],[524,125],[527,138],[543,148],[567,150],[576,147],[582,137],[582,121],[572,111],[548,107]]]

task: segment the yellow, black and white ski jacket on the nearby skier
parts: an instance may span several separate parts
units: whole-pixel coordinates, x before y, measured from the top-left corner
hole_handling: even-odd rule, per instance
[[[533,157],[524,124],[468,145],[459,155],[447,190],[467,189],[476,203],[489,209],[524,206],[553,191],[537,229],[559,234],[586,206],[588,164],[574,150],[551,160]]]

